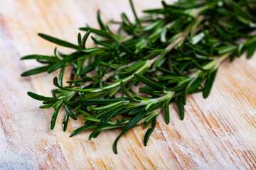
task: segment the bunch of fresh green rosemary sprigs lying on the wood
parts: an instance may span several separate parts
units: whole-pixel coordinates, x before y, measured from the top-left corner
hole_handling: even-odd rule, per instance
[[[203,92],[207,98],[213,86],[220,62],[232,62],[247,52],[252,57],[256,49],[256,1],[253,0],[180,0],[162,8],[144,11],[139,18],[129,1],[135,22],[122,13],[122,21],[102,23],[100,11],[97,21],[100,29],[84,27],[78,34],[78,45],[38,34],[57,45],[73,48],[65,55],[54,50],[54,55],[28,55],[21,60],[35,59],[46,64],[21,74],[26,77],[60,69],[53,79],[56,89],[52,97],[28,92],[32,98],[43,101],[40,108],[53,108],[50,122],[53,130],[60,108],[65,108],[63,131],[68,120],[85,120],[70,137],[82,130],[93,129],[89,140],[102,130],[121,128],[117,141],[134,126],[144,124],[144,145],[156,126],[156,117],[162,108],[169,123],[169,104],[176,103],[181,120],[184,118],[186,95]],[[110,26],[118,25],[113,33]],[[90,33],[95,47],[86,47]],[[69,86],[63,86],[65,67],[72,66]],[[138,86],[140,84],[140,86]],[[142,85],[143,84],[143,85]],[[144,93],[139,96],[139,93]],[[146,94],[146,95],[145,95]]]

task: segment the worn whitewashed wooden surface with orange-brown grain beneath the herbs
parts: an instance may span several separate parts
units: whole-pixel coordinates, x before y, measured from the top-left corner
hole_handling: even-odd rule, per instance
[[[19,58],[53,54],[55,45],[39,38],[38,32],[76,42],[80,26],[97,27],[98,8],[104,21],[118,20],[122,11],[132,18],[128,1],[0,4],[0,169],[256,169],[256,56],[224,62],[208,99],[202,94],[188,96],[185,120],[171,105],[171,123],[166,125],[159,115],[147,147],[142,143],[146,130],[137,127],[119,140],[116,155],[112,143],[120,130],[102,132],[90,142],[90,132],[70,138],[82,121],[70,121],[67,132],[62,132],[63,111],[50,130],[53,110],[39,109],[41,102],[26,92],[50,96],[58,72],[22,78],[21,72],[40,64]],[[137,11],[160,4],[135,1]]]

